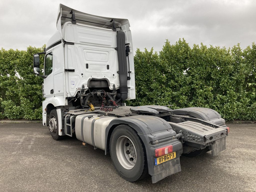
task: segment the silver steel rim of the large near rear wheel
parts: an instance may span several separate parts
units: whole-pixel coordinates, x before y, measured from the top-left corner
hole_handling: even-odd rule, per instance
[[[119,163],[125,169],[132,169],[136,164],[136,148],[132,141],[126,137],[121,136],[116,141],[116,156]]]

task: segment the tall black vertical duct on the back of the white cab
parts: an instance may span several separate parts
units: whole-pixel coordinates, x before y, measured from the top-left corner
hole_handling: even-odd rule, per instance
[[[116,32],[117,39],[117,57],[118,57],[118,73],[120,82],[120,98],[124,101],[128,98],[128,87],[127,87],[127,61],[125,53],[125,34],[124,31]]]

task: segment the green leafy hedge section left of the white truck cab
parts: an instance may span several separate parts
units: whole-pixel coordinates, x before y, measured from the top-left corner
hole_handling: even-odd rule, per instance
[[[0,119],[42,119],[43,79],[33,74],[33,54],[43,49],[0,50]]]

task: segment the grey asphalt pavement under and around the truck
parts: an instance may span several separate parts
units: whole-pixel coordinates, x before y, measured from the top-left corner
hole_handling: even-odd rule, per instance
[[[256,124],[228,126],[225,151],[181,156],[181,172],[152,184],[122,179],[104,151],[55,141],[41,123],[1,123],[0,191],[256,191]]]

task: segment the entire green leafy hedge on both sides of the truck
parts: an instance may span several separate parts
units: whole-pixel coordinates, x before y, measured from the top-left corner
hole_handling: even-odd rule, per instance
[[[0,50],[0,119],[42,119],[43,79],[32,69],[42,51]],[[159,54],[138,49],[134,63],[136,100],[127,104],[207,107],[226,120],[256,120],[254,43],[242,50],[166,41]]]

